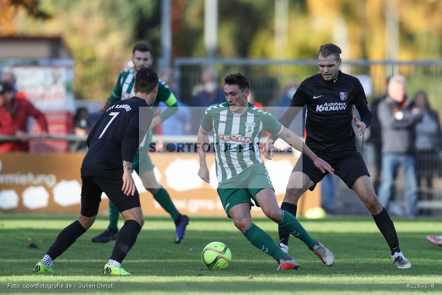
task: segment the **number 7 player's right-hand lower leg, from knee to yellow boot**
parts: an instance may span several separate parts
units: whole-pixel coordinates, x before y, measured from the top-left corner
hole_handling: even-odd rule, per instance
[[[127,209],[121,212],[124,218],[124,225],[121,228],[108,263],[104,266],[103,274],[106,275],[131,275],[121,263],[134,246],[141,227],[144,224],[144,217],[141,207]]]

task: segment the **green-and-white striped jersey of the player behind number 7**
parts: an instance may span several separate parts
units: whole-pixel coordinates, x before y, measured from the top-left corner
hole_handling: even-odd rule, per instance
[[[117,83],[111,94],[111,105],[115,104],[121,99],[128,99],[135,95],[135,71],[127,70],[122,71],[118,76]],[[152,107],[156,108],[160,101],[163,101],[167,106],[172,106],[176,103],[176,97],[172,94],[167,83],[163,80],[158,81],[158,93],[157,99],[153,103]]]

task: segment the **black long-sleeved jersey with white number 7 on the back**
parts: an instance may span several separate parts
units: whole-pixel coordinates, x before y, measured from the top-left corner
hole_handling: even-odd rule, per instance
[[[107,109],[87,137],[82,176],[122,175],[122,162],[133,161],[152,115],[145,100],[136,96]]]

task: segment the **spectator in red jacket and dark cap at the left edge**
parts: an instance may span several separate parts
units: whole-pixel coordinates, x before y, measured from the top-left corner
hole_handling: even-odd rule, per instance
[[[26,98],[17,99],[9,83],[1,82],[0,87],[2,88],[0,95],[2,96],[3,107],[9,112],[15,135],[21,140],[21,142],[16,142],[14,150],[28,151],[28,116],[32,116],[37,120],[42,130],[41,137],[43,139],[48,137],[48,122],[43,113],[37,110]]]

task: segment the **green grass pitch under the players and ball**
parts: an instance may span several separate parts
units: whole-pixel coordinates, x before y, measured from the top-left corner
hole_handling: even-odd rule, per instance
[[[106,228],[100,216],[92,228],[55,260],[55,275],[33,275],[33,266],[43,257],[58,232],[76,215],[0,215],[1,294],[442,294],[442,247],[430,244],[426,235],[442,235],[438,219],[394,218],[400,245],[412,268],[397,269],[389,257],[384,237],[371,216],[332,216],[300,221],[307,231],[335,255],[327,267],[294,237],[289,254],[301,265],[299,271],[277,272],[276,262],[249,244],[228,218],[191,217],[186,236],[175,244],[174,225],[166,217],[147,217],[137,243],[123,266],[132,277],[101,274],[113,242],[90,241]],[[268,219],[254,222],[277,239],[277,226]],[[121,227],[120,220],[119,226]],[[201,262],[201,251],[211,241],[226,243],[232,264],[210,271]],[[35,243],[38,248],[29,248]],[[34,284],[76,284],[69,289],[24,289]],[[407,288],[407,284],[434,284],[434,288]],[[8,288],[18,284],[21,288]],[[95,288],[80,288],[92,284]],[[111,289],[98,288],[113,284]]]

